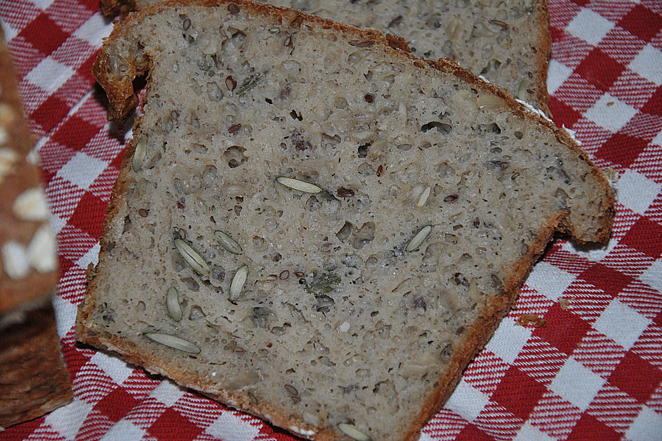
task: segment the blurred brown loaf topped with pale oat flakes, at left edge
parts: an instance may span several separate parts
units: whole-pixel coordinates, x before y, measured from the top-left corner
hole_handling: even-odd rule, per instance
[[[55,238],[33,145],[0,30],[0,427],[72,398],[51,305]]]

